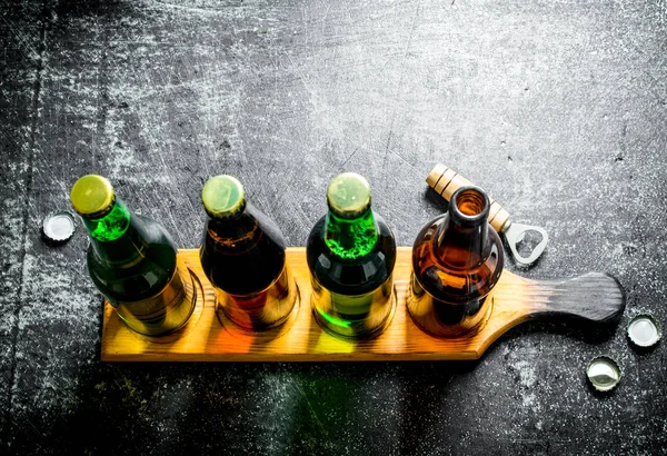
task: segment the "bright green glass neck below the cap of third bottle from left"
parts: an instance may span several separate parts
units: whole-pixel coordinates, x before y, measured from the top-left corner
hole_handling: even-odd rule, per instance
[[[378,240],[378,228],[370,207],[354,219],[338,217],[331,210],[325,220],[325,244],[340,258],[368,255]]]

